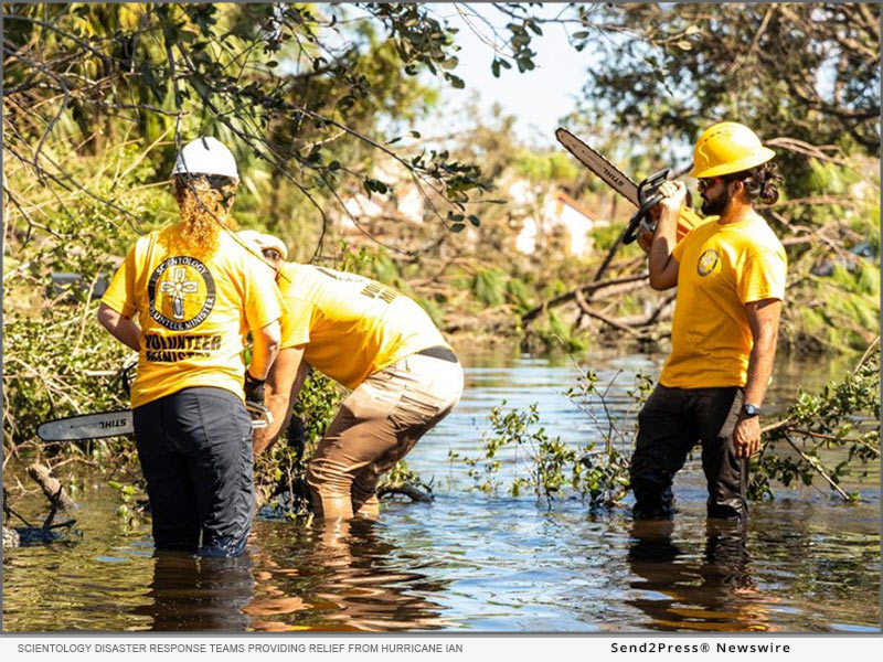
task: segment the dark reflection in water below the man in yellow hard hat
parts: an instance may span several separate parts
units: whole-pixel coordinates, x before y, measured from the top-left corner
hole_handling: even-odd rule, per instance
[[[747,527],[709,519],[701,556],[672,540],[672,521],[637,521],[631,527],[628,564],[640,577],[627,600],[650,617],[657,630],[772,631],[768,610],[752,578]],[[768,601],[769,598],[767,597]]]

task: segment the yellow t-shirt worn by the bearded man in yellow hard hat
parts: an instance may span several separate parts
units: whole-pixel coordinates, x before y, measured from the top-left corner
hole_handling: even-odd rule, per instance
[[[705,223],[672,252],[678,297],[671,355],[659,383],[679,388],[745,386],[752,337],[745,305],[785,298],[787,257],[757,215]]]

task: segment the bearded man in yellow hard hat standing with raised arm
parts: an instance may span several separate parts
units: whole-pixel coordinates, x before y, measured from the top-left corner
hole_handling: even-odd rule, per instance
[[[775,152],[732,121],[706,129],[693,152],[702,212],[680,243],[683,182],[666,182],[649,250],[650,287],[678,286],[671,354],[639,417],[631,458],[637,519],[673,514],[671,484],[702,444],[709,516],[747,514],[747,461],[760,445],[758,415],[773,372],[787,258],[755,204],[778,200]]]

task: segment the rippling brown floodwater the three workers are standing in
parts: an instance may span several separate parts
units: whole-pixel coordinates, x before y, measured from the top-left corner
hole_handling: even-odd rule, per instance
[[[655,375],[660,362],[593,353],[600,384],[621,371],[614,415],[626,410],[630,375]],[[546,430],[567,442],[597,431],[561,394],[576,375],[568,357],[465,363],[460,406],[408,457],[434,479],[433,503],[391,503],[377,523],[259,520],[244,557],[196,559],[156,554],[149,527],[127,528],[114,490],[83,474],[82,536],[4,553],[3,630],[880,631],[879,466],[849,485],[861,490],[858,505],[780,489],[745,528],[706,522],[695,461],[675,481],[673,523],[592,514],[577,499],[550,508],[488,496],[448,451],[477,456],[503,398],[508,408],[539,403]],[[849,365],[780,360],[766,409],[784,407],[798,380],[811,392]],[[504,461],[502,478],[513,471]]]

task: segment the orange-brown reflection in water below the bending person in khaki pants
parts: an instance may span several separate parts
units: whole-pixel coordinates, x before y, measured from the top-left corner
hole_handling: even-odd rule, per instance
[[[450,627],[442,617],[444,607],[427,597],[443,591],[448,583],[405,569],[419,562],[401,563],[402,551],[383,535],[381,524],[317,522],[298,537],[296,556],[256,555],[256,597],[245,608],[251,628],[395,631]]]

